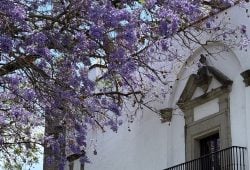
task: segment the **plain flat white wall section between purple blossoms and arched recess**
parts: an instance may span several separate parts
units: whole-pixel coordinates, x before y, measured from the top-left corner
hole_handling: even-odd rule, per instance
[[[97,139],[96,156],[91,156],[87,170],[152,170],[167,166],[170,144],[167,140],[169,126],[161,124],[159,117],[146,111],[138,115],[128,131],[124,123],[118,133],[92,134]],[[89,150],[89,152],[92,152]]]

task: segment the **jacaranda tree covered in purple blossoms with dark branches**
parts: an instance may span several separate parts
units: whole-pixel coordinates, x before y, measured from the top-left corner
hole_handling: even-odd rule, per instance
[[[1,162],[32,164],[43,146],[46,163],[63,169],[65,150],[84,155],[89,129],[117,131],[126,100],[153,109],[144,100],[147,84],[168,76],[153,67],[155,51],[173,62],[180,57],[173,41],[202,45],[187,28],[246,38],[244,26],[224,31],[203,21],[235,3],[0,0]]]

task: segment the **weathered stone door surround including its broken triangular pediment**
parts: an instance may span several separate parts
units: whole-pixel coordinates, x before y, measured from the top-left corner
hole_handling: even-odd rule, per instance
[[[209,70],[208,70],[209,71]],[[211,73],[211,72],[210,72]],[[218,72],[216,72],[217,74]],[[214,75],[214,74],[212,74]],[[221,75],[221,73],[219,74]],[[193,80],[191,76],[191,80]],[[217,75],[216,79],[219,76]],[[227,148],[231,146],[231,127],[230,127],[230,110],[229,110],[229,93],[231,91],[232,81],[226,76],[221,83],[222,86],[213,89],[212,91],[205,92],[203,95],[191,99],[192,94],[186,95],[187,89],[192,89],[197,87],[197,83],[186,84],[182,98],[178,101],[177,105],[184,112],[185,115],[185,148],[186,148],[186,161],[196,159],[200,156],[200,140],[204,139],[210,135],[219,134],[220,138],[220,149]],[[220,78],[220,77],[219,77]],[[201,79],[201,78],[200,78]],[[209,83],[209,81],[206,81]],[[221,81],[223,82],[223,81]],[[208,84],[209,85],[209,84]],[[189,86],[189,87],[187,87]],[[194,87],[191,87],[194,86]],[[190,92],[190,91],[189,91]],[[184,100],[183,100],[184,99]],[[194,108],[200,105],[206,105],[207,102],[217,99],[218,112],[211,113],[206,117],[199,120],[194,120]],[[216,101],[216,100],[215,100]],[[208,108],[209,109],[209,108]]]

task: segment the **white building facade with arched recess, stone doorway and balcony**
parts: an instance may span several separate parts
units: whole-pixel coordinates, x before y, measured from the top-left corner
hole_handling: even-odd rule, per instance
[[[226,13],[235,25],[245,24],[250,35],[245,9],[236,5]],[[222,49],[223,43],[211,43],[187,56],[173,93],[159,106],[165,123],[155,113],[144,111],[129,125],[131,131],[125,123],[118,133],[93,133],[90,143],[98,153],[89,154],[92,163],[81,166],[73,159],[66,169],[250,169],[250,48]],[[220,52],[209,57],[207,50]],[[193,63],[201,56],[206,61],[198,67]]]

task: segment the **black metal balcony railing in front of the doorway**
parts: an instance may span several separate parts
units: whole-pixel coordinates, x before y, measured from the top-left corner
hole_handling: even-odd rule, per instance
[[[246,148],[232,146],[165,170],[247,170]]]

